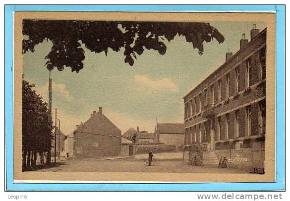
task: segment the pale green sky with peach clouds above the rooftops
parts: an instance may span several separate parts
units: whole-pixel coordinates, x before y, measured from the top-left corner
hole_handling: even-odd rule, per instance
[[[203,79],[220,67],[226,52],[239,50],[241,34],[250,41],[253,24],[263,30],[261,22],[209,22],[225,37],[204,43],[203,55],[192,48],[183,36],[175,36],[167,46],[166,54],[145,49],[131,67],[124,63],[123,52],[108,50],[95,54],[85,47],[84,68],[79,73],[65,67],[52,70],[52,108],[57,108],[60,130],[70,134],[75,126],[90,118],[94,110],[103,107],[107,116],[121,131],[140,127],[154,132],[158,123],[183,123],[183,97]],[[34,83],[35,90],[48,102],[49,71],[45,56],[52,42],[43,42],[35,52],[23,55],[24,79]]]

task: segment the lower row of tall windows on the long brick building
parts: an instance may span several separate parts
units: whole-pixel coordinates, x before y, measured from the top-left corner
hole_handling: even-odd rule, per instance
[[[216,141],[265,134],[265,99],[185,129],[185,145],[192,142],[210,142],[211,130]]]

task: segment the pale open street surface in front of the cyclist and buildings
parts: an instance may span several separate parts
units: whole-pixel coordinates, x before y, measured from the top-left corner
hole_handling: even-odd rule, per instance
[[[52,168],[37,171],[52,172],[169,172],[169,173],[248,173],[244,170],[219,167],[190,166],[181,159],[159,159],[153,166],[144,159],[75,159],[60,160]]]

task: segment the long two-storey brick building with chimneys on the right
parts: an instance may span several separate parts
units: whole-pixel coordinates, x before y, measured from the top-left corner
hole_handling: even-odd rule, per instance
[[[252,29],[250,41],[242,34],[240,49],[184,96],[185,150],[200,142],[228,158],[227,150],[240,149],[264,157],[266,31]]]

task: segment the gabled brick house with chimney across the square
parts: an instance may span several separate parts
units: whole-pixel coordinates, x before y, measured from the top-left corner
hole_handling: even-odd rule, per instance
[[[91,118],[78,125],[74,132],[76,158],[117,156],[121,151],[121,131],[103,114],[94,111]]]

